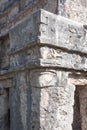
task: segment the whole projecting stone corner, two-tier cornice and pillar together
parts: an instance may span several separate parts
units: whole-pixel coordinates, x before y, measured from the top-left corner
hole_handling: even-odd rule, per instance
[[[0,71],[0,85],[10,90],[11,129],[72,130],[75,89],[87,84],[69,77],[87,72],[83,25],[41,9],[14,26],[9,38],[10,66]]]

